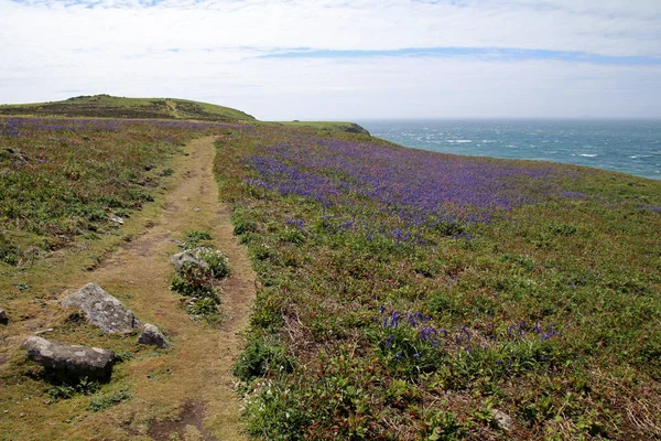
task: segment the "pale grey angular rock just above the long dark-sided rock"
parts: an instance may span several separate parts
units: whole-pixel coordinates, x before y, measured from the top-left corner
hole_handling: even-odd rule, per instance
[[[65,297],[62,305],[78,308],[87,321],[107,334],[132,334],[142,326],[130,310],[96,283]]]

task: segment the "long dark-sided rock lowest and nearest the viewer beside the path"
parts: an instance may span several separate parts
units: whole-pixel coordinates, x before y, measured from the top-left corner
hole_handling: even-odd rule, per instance
[[[66,377],[102,378],[112,372],[112,351],[58,344],[34,336],[28,337],[23,347],[30,359]]]

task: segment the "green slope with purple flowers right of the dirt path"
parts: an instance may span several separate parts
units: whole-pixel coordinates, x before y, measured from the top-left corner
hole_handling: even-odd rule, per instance
[[[218,142],[262,439],[661,437],[661,182],[259,127]]]

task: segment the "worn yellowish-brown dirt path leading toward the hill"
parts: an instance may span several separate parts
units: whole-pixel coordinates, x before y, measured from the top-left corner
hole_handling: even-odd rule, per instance
[[[195,140],[186,152],[176,170],[176,187],[166,195],[155,225],[80,280],[94,280],[108,292],[129,292],[127,305],[143,323],[156,324],[170,335],[173,347],[158,357],[126,363],[133,399],[86,418],[68,439],[88,431],[111,440],[243,439],[231,366],[241,344],[238,333],[248,324],[254,275],[232,235],[227,208],[217,202],[214,139]],[[220,330],[192,321],[169,289],[174,272],[169,258],[178,249],[175,240],[193,229],[208,232],[229,258],[231,277],[224,286],[226,319]]]

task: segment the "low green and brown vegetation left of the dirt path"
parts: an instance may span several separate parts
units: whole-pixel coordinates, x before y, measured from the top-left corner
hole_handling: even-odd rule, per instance
[[[28,265],[76,238],[111,234],[153,201],[185,141],[231,127],[0,118],[0,260]]]

